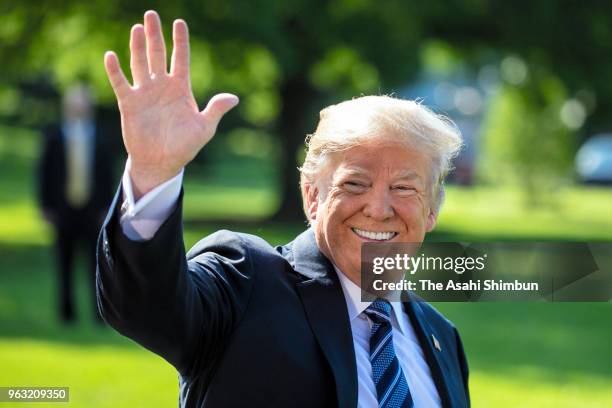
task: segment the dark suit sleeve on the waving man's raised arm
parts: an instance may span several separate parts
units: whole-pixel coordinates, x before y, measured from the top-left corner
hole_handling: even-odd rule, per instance
[[[246,308],[254,270],[248,246],[229,231],[186,257],[182,193],[154,237],[132,241],[119,225],[121,189],[98,240],[96,290],[104,319],[184,376],[210,370]]]

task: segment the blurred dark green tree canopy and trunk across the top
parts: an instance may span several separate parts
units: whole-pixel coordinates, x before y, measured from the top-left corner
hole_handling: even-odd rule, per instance
[[[429,40],[448,44],[474,67],[519,55],[528,67],[553,73],[566,96],[586,106],[589,131],[609,123],[612,59],[602,56],[612,55],[612,4],[595,1],[5,2],[0,5],[0,101],[16,99],[14,84],[47,73],[60,86],[86,75],[100,100],[111,104],[102,54],[115,49],[127,65],[130,26],[149,8],[160,12],[167,33],[174,18],[189,23],[199,100],[218,90],[236,92],[243,101],[240,120],[276,136],[282,153],[280,219],[302,217],[296,157],[318,110],[410,82],[420,68],[419,48]],[[543,94],[534,89],[516,87],[511,93],[521,96],[507,100],[542,111]]]

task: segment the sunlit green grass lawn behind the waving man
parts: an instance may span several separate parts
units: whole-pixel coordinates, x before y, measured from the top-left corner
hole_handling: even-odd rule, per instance
[[[0,128],[0,386],[70,387],[70,403],[33,406],[175,406],[178,382],[172,367],[91,322],[82,268],[77,274],[81,321],[68,328],[58,324],[51,231],[33,201],[36,135],[6,135]],[[304,228],[302,222],[258,221],[277,203],[273,165],[245,158],[240,167],[236,160],[214,166],[206,176],[188,173],[187,245],[227,227],[280,244]],[[236,222],[219,223],[218,217]],[[518,191],[449,188],[437,231],[436,239],[468,241],[612,240],[612,191],[567,188],[550,206],[525,209]],[[436,306],[463,336],[474,406],[612,406],[611,303]]]

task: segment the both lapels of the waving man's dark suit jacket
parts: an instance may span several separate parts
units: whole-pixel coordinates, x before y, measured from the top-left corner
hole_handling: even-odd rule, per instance
[[[329,260],[319,251],[311,229],[300,234],[284,248],[285,256],[296,272],[305,277],[296,284],[298,295],[312,331],[323,350],[336,381],[338,406],[357,407],[357,366],[353,335],[346,301],[338,276]],[[404,309],[414,327],[425,360],[429,365],[434,384],[443,407],[461,406],[454,401],[449,389],[448,351],[438,350],[434,344],[435,333],[418,300],[404,303]]]

